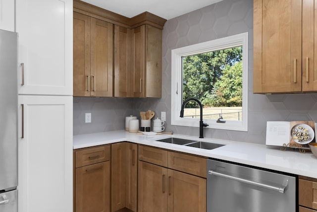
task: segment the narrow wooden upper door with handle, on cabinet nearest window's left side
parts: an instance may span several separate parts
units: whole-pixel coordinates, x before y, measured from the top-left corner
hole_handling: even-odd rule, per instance
[[[145,25],[132,29],[132,84],[134,97],[145,97]]]

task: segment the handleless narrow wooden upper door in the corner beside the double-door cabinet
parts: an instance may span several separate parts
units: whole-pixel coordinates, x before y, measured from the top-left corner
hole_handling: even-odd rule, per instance
[[[114,25],[114,96],[131,96],[131,29]]]

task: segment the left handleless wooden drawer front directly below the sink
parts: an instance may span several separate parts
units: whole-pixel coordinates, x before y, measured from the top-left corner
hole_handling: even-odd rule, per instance
[[[155,147],[139,145],[139,160],[167,167],[167,151]]]

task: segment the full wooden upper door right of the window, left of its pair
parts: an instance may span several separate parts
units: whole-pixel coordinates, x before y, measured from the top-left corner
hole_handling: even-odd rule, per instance
[[[302,90],[301,17],[302,0],[254,0],[254,93]]]

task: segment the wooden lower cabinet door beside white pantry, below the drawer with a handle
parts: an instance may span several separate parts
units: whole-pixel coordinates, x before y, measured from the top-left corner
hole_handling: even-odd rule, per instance
[[[110,161],[76,168],[76,212],[110,211]]]

